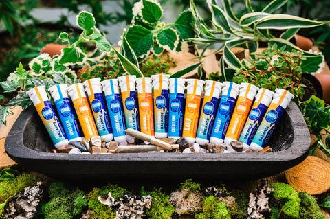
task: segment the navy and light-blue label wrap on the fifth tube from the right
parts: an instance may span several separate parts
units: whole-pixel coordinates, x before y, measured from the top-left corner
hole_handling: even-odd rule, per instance
[[[204,97],[204,101],[207,102],[203,104],[203,108],[201,109],[196,137],[206,140],[210,139],[218,100],[218,98],[212,97],[211,100],[208,101],[206,97]]]

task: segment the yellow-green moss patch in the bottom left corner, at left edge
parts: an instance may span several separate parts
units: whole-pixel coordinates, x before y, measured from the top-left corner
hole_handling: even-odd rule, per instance
[[[15,181],[0,182],[0,203],[14,196],[15,193],[21,192],[25,187],[36,183],[37,178],[32,178],[29,174],[23,173],[17,176]]]

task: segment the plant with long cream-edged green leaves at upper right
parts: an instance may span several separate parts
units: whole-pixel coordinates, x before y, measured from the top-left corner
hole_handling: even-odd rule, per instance
[[[292,48],[300,51],[301,49],[289,43],[289,39],[300,28],[316,27],[328,23],[327,21],[312,21],[287,14],[272,14],[286,3],[286,1],[281,0],[272,1],[261,12],[255,12],[250,0],[247,0],[246,7],[249,13],[244,14],[240,18],[237,18],[234,14],[230,0],[222,1],[223,9],[219,8],[215,1],[208,2],[212,12],[212,25],[214,29],[205,25],[205,22],[200,18],[192,2],[192,12],[196,19],[195,28],[198,30],[198,37],[193,41],[195,43],[205,44],[204,49],[207,49],[210,45],[222,43],[218,49],[218,51],[223,49],[223,56],[220,59],[222,73],[225,73],[225,63],[235,70],[242,67],[241,62],[230,51],[231,47],[247,45],[252,58],[253,53],[259,47],[259,42],[266,42],[270,45],[277,44],[278,47],[285,45],[287,51],[292,51]],[[277,30],[284,30],[279,38],[274,36],[274,32]],[[304,56],[306,59],[303,63],[306,63],[306,65],[322,59],[322,56],[309,52],[305,52]],[[316,72],[315,70],[317,71],[318,69],[310,69],[307,72],[313,73]],[[200,75],[200,77],[203,78],[203,75]]]

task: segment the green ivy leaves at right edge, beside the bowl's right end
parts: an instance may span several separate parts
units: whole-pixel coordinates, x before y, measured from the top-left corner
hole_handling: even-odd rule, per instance
[[[320,148],[325,154],[330,157],[330,108],[325,107],[325,101],[312,95],[309,100],[303,102],[303,115],[307,120],[307,125],[318,141],[311,145],[309,154],[313,154],[316,148]],[[325,143],[322,137],[327,135]]]

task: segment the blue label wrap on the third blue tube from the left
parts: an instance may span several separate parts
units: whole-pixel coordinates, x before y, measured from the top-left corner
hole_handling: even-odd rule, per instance
[[[181,137],[184,122],[184,94],[170,93],[168,137]]]

